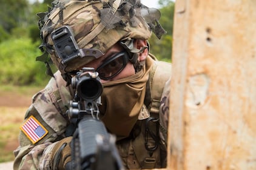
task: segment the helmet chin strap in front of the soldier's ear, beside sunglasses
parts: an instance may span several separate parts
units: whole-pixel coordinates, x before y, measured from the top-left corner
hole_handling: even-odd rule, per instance
[[[135,73],[138,73],[143,68],[145,61],[139,61],[139,53],[143,53],[143,51],[146,48],[149,48],[148,46],[142,47],[140,50],[138,48],[134,47],[133,44],[134,39],[125,39],[120,41],[120,45],[127,50],[129,54],[129,61],[133,64],[133,67],[135,69]]]

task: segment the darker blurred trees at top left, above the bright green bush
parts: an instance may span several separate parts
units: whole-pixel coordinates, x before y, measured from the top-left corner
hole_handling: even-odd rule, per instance
[[[10,37],[15,38],[29,36],[33,42],[39,41],[39,29],[37,26],[38,16],[36,13],[47,11],[52,1],[45,0],[43,3],[35,1],[33,4],[28,0],[2,0],[0,5],[0,42]]]

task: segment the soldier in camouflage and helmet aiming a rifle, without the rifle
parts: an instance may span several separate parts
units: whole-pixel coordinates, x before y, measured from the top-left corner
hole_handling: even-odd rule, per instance
[[[25,114],[14,169],[70,168],[73,127],[66,111],[74,93],[71,79],[83,67],[99,73],[104,87],[100,117],[116,136],[124,167],[164,168],[171,69],[149,53],[147,42],[151,31],[158,38],[165,33],[160,11],[138,0],[59,0],[39,16],[39,48],[45,54],[38,60],[53,77]],[[65,34],[71,41],[56,41]],[[72,56],[73,47],[77,54]],[[58,68],[54,75],[50,60]]]

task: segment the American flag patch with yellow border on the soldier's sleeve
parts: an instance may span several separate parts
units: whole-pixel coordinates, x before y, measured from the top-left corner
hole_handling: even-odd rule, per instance
[[[47,129],[33,116],[30,116],[20,129],[33,144],[41,140],[48,133]]]

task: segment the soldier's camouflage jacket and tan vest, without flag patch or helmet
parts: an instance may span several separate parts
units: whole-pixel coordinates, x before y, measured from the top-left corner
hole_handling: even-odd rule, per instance
[[[140,119],[132,131],[132,136],[128,139],[117,141],[117,147],[121,158],[127,169],[149,169],[161,168],[166,166],[166,141],[167,141],[167,119],[165,100],[169,100],[169,83],[163,85],[170,77],[170,64],[165,62],[155,62],[159,65],[158,71],[151,71],[151,87],[156,90],[152,92],[151,107],[144,106],[141,109]],[[154,68],[153,68],[154,69]],[[160,98],[162,102],[160,106]],[[48,134],[33,145],[33,143],[24,135],[19,135],[20,146],[15,151],[14,169],[51,169],[52,165],[49,155],[52,154],[52,148],[58,140],[66,137],[66,128],[69,120],[66,117],[69,100],[72,99],[72,88],[66,87],[66,82],[62,79],[59,71],[55,73],[49,84],[33,96],[33,103],[25,114],[25,119],[34,116],[49,132]],[[153,102],[152,102],[153,101]],[[159,108],[161,110],[159,111]],[[159,115],[160,113],[160,115]],[[160,146],[153,154],[150,154],[144,146],[144,122],[149,116],[160,117]],[[152,127],[154,129],[155,127]],[[153,145],[149,142],[149,145]],[[150,156],[151,155],[151,156]]]

